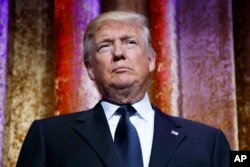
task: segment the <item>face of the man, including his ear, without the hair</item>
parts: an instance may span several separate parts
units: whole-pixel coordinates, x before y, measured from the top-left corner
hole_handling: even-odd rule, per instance
[[[146,86],[154,70],[141,30],[133,23],[106,21],[93,38],[88,73],[101,90]]]

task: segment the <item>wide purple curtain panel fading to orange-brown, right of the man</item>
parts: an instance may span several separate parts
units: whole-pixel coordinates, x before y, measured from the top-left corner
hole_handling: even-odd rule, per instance
[[[238,148],[231,0],[177,0],[182,117],[223,129]]]

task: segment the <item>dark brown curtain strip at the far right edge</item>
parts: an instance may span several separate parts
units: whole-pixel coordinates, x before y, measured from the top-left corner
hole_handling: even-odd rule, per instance
[[[250,150],[250,3],[233,1],[239,146]]]

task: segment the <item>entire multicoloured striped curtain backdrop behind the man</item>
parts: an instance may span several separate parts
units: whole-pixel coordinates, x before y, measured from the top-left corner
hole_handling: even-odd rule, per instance
[[[233,150],[250,150],[249,9],[247,0],[0,0],[1,164],[15,166],[35,119],[99,100],[83,64],[83,34],[111,10],[149,19],[152,103],[222,129]]]

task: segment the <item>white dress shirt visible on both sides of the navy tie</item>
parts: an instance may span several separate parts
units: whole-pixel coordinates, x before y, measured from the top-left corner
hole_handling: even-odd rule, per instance
[[[120,119],[120,115],[115,114],[115,111],[119,106],[107,101],[102,101],[101,105],[105,111],[114,140],[115,130]],[[148,94],[132,106],[136,109],[137,113],[130,117],[130,121],[135,126],[140,139],[144,167],[148,167],[153,143],[154,110],[149,102]]]

